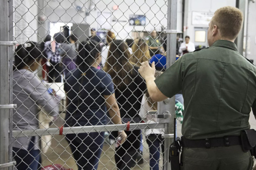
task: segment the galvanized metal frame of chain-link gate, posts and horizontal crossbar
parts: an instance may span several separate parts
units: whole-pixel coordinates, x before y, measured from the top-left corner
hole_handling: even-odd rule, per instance
[[[10,131],[12,129],[12,59],[13,55],[13,6],[12,0],[1,0],[0,5],[0,169],[11,170],[15,162],[12,162],[12,146],[10,145],[12,136],[43,136],[43,135],[59,135],[59,128],[49,128],[47,130],[38,129],[35,131]],[[168,0],[167,14],[167,30],[164,33],[170,34],[167,36],[167,68],[170,67],[176,60],[176,34],[177,34],[177,0]],[[10,105],[8,105],[10,104]],[[130,129],[141,128],[165,128],[165,151],[164,151],[164,170],[170,170],[169,163],[169,146],[173,139],[173,118],[175,98],[172,97],[164,102],[158,103],[158,115],[162,121],[158,124],[138,123],[130,124]],[[161,109],[160,109],[161,108]],[[164,109],[163,109],[164,108]],[[63,128],[64,134],[77,134],[82,132],[93,131],[118,131],[125,130],[127,125],[97,125],[86,127]],[[81,132],[82,130],[82,132]],[[7,147],[8,146],[8,147]],[[9,168],[8,168],[9,167]]]

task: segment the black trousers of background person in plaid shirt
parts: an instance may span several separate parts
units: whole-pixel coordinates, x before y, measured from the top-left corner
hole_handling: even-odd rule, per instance
[[[61,82],[62,71],[63,71],[63,68],[60,66],[59,63],[51,63],[51,66],[49,67],[48,81]]]

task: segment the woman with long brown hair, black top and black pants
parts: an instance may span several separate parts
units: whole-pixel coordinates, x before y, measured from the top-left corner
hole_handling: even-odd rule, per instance
[[[131,54],[123,40],[113,40],[109,47],[104,70],[113,78],[117,103],[123,123],[139,123],[140,101],[146,90],[146,83],[138,73],[139,67],[129,62]],[[140,130],[125,131],[127,140],[116,148],[117,169],[130,169],[138,156]],[[114,133],[117,135],[117,133]]]

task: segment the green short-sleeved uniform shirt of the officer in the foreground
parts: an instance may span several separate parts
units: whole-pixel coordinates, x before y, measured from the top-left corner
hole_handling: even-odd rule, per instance
[[[250,128],[256,67],[233,42],[218,40],[208,49],[183,55],[155,83],[167,97],[182,90],[182,135],[187,139],[238,136]]]

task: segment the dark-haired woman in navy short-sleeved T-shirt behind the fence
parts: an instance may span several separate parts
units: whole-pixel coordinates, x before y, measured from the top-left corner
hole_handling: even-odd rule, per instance
[[[116,103],[114,85],[109,74],[97,66],[101,62],[101,47],[93,40],[79,45],[76,69],[64,83],[67,94],[65,127],[106,124],[106,112],[114,124],[122,124]],[[124,131],[118,132],[126,139]],[[78,170],[97,170],[104,142],[104,132],[67,134],[66,139],[77,162]]]

